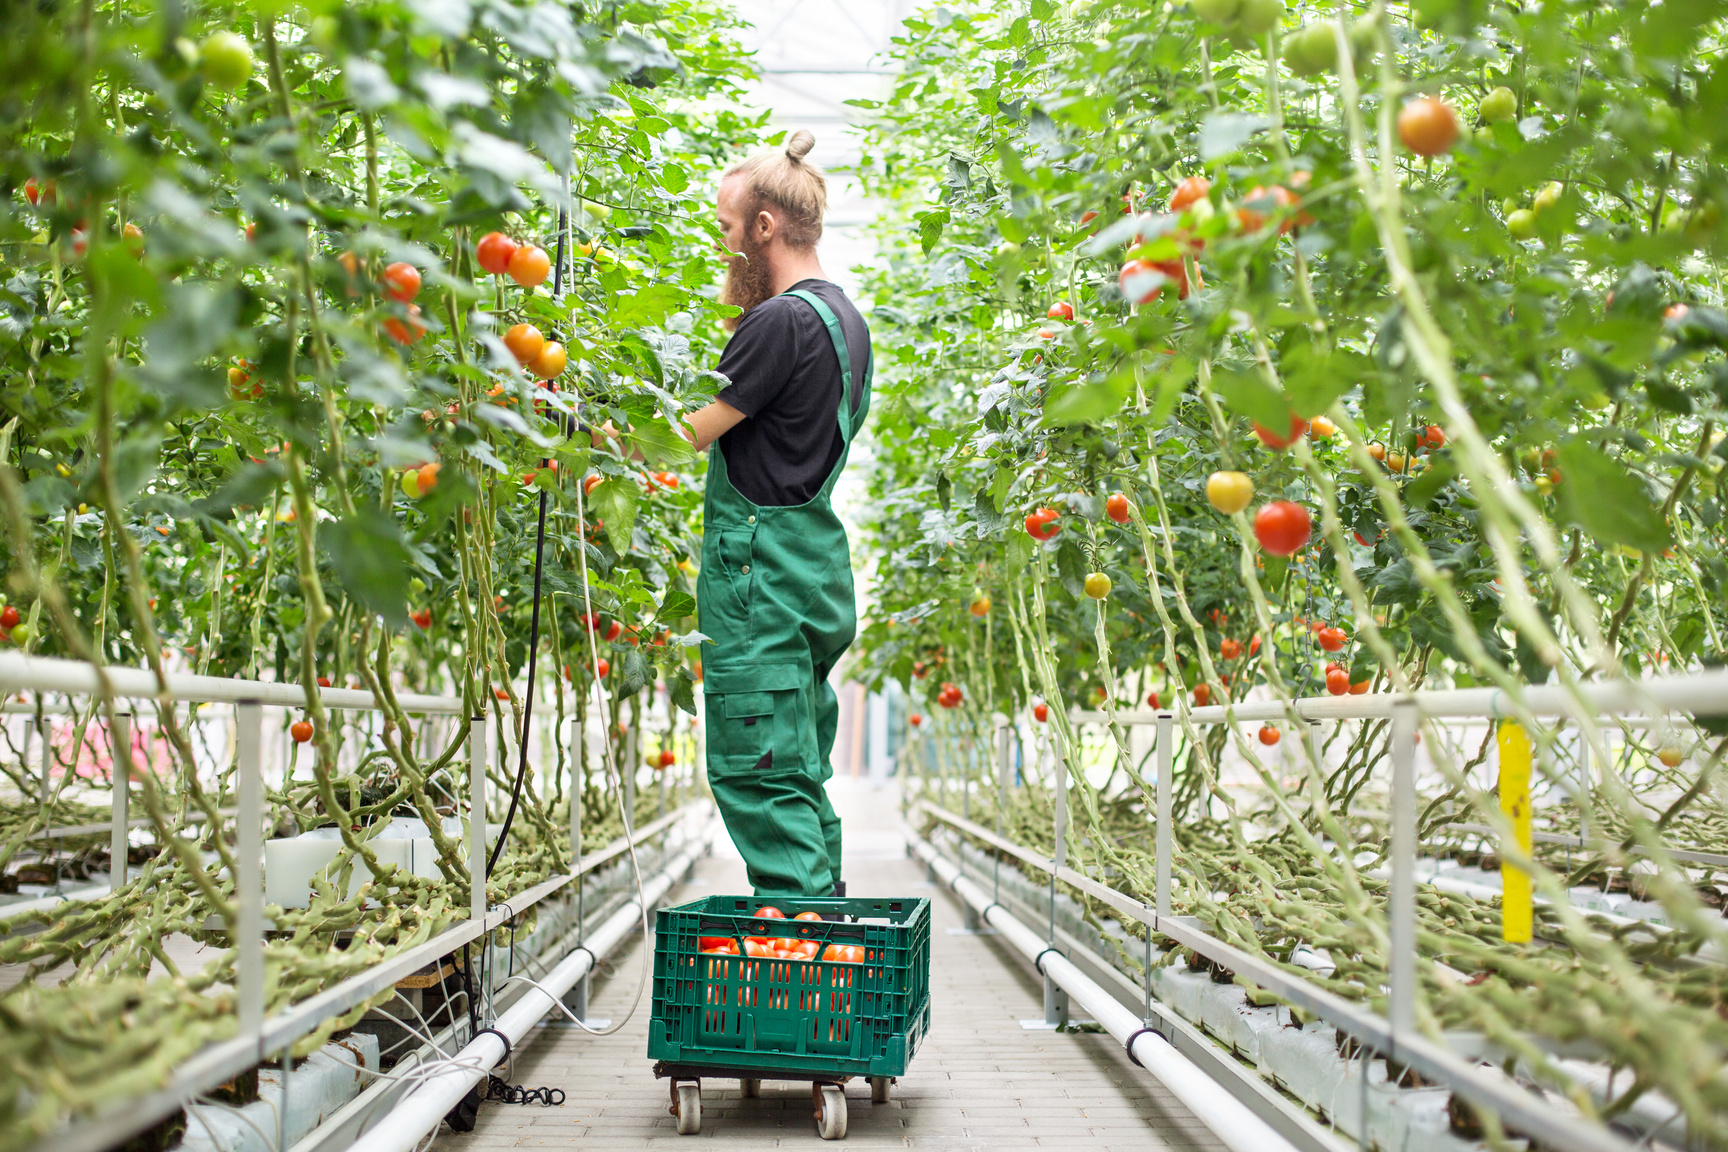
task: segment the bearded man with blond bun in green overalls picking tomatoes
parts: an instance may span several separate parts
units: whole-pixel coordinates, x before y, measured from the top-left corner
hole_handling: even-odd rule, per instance
[[[698,627],[708,786],[759,896],[843,896],[840,817],[824,789],[840,705],[828,674],[857,636],[852,556],[835,480],[869,411],[864,318],[816,259],[828,188],[816,140],[721,180],[741,314],[729,383],[691,418],[708,451]]]

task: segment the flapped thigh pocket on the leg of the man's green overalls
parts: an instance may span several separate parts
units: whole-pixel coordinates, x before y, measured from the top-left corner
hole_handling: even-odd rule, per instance
[[[804,679],[795,663],[707,670],[710,775],[786,775],[807,769]]]

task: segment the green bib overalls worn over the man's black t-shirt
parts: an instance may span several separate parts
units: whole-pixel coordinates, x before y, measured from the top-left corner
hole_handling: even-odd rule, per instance
[[[788,292],[823,318],[840,358],[840,459],[805,504],[764,508],[708,447],[698,627],[708,788],[759,896],[828,896],[840,879],[840,817],[824,784],[840,724],[828,674],[857,636],[852,553],[831,496],[869,413],[873,359],[852,411],[852,359],[840,318],[810,292]]]

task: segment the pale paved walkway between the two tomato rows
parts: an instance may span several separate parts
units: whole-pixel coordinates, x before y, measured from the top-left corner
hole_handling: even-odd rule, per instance
[[[1042,1014],[1042,984],[1030,967],[990,936],[949,934],[959,927],[957,903],[924,881],[907,860],[899,832],[900,800],[890,786],[836,779],[835,807],[847,829],[850,895],[933,898],[933,1026],[911,1069],[885,1105],[869,1102],[869,1085],[847,1085],[852,1149],[1182,1149],[1223,1145],[1161,1085],[1134,1067],[1106,1035],[1023,1031]],[[696,883],[674,893],[748,891],[743,862],[715,843]],[[620,952],[612,978],[594,990],[593,1012],[622,1017],[641,972],[639,946]],[[702,1135],[679,1136],[667,1112],[667,1085],[653,1078],[648,1048],[648,995],[613,1036],[563,1028],[536,1029],[515,1060],[513,1083],[563,1088],[562,1107],[487,1104],[472,1133],[442,1130],[442,1152],[492,1149],[676,1149],[721,1142],[734,1147],[817,1147],[810,1088],[764,1083],[745,1100],[738,1081],[705,1081]]]

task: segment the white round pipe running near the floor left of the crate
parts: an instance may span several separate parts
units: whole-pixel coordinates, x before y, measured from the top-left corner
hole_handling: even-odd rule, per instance
[[[511,1048],[543,1016],[553,1010],[553,1005],[575,981],[588,976],[596,957],[612,952],[641,924],[643,907],[653,907],[672,888],[684,869],[696,862],[696,855],[712,834],[714,824],[707,824],[696,839],[643,884],[639,902],[626,902],[594,929],[593,936],[577,945],[570,955],[537,981],[541,988],[529,988],[520,1000],[510,1005],[508,1012],[498,1017],[492,1028],[510,1038]],[[349,1152],[413,1152],[425,1140],[425,1135],[437,1128],[444,1116],[468,1095],[468,1090],[480,1083],[503,1059],[505,1043],[498,1036],[491,1033],[477,1036],[453,1057],[444,1071],[427,1076],[401,1104],[391,1109],[389,1117],[380,1119],[372,1131],[356,1140]]]

